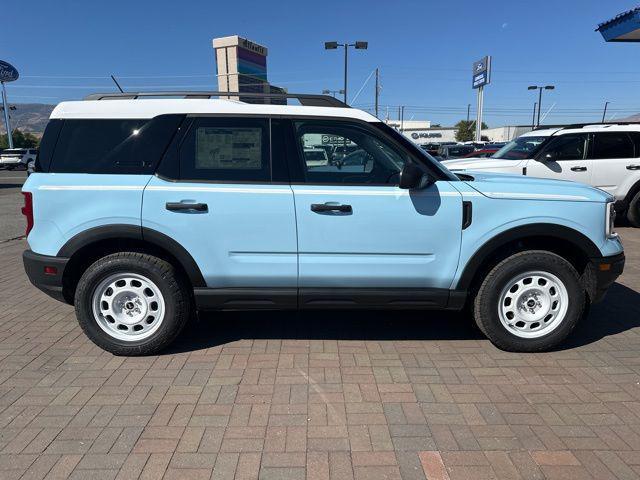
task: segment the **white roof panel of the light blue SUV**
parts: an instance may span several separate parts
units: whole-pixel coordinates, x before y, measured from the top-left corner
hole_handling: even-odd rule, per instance
[[[234,100],[196,98],[82,100],[59,103],[51,118],[153,118],[169,113],[230,114],[230,115],[286,115],[344,117],[379,122],[373,115],[356,108],[305,107],[300,105],[260,105]]]

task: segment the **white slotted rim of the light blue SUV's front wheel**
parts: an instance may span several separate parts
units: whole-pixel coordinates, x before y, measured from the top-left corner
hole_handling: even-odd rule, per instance
[[[548,335],[562,323],[569,308],[567,287],[548,272],[526,272],[513,277],[499,298],[500,322],[520,338]]]

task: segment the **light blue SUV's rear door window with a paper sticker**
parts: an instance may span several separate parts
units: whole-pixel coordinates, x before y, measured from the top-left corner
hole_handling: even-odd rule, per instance
[[[271,181],[269,121],[195,119],[180,146],[180,178]]]

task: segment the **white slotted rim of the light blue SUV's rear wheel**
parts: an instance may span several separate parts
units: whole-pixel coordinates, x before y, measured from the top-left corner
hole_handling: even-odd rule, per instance
[[[164,298],[158,286],[137,273],[116,273],[96,287],[93,316],[110,337],[126,342],[153,335],[164,320]]]

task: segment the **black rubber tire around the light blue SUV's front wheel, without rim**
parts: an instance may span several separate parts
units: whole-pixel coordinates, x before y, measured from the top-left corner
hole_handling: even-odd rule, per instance
[[[555,276],[568,294],[568,308],[564,316],[554,319],[558,322],[555,328],[537,338],[516,335],[516,329],[509,330],[503,325],[499,313],[503,290],[512,279],[527,272],[545,272]],[[571,263],[551,252],[529,250],[516,253],[491,269],[477,291],[473,311],[478,327],[496,347],[511,352],[541,352],[555,347],[571,333],[582,317],[586,301],[584,287]]]

